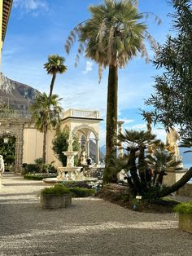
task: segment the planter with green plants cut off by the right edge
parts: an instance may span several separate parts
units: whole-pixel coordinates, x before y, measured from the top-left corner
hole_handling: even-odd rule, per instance
[[[179,215],[179,228],[192,233],[192,202],[178,204],[173,210]]]

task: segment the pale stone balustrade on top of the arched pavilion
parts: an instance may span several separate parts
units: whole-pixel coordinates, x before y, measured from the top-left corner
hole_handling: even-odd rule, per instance
[[[63,113],[63,118],[66,118],[66,117],[99,118],[99,112],[70,108]]]

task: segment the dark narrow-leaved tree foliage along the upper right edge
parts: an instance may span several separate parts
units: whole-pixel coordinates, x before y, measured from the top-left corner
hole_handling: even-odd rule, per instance
[[[172,0],[174,36],[156,50],[154,64],[163,68],[155,77],[155,94],[146,100],[154,108],[155,122],[177,125],[185,136],[192,135],[192,11],[190,0]]]

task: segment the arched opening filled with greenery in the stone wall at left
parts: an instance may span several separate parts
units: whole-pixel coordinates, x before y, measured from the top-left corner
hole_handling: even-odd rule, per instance
[[[5,171],[14,171],[15,168],[16,137],[11,132],[0,134],[0,155],[3,157]]]

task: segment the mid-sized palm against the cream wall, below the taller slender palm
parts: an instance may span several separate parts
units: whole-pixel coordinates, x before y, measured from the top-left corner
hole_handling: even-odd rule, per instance
[[[48,97],[44,92],[36,96],[34,104],[30,110],[35,121],[37,130],[43,133],[42,159],[46,163],[46,137],[47,131],[55,128],[59,124],[62,108],[59,105],[59,96],[51,95]]]

